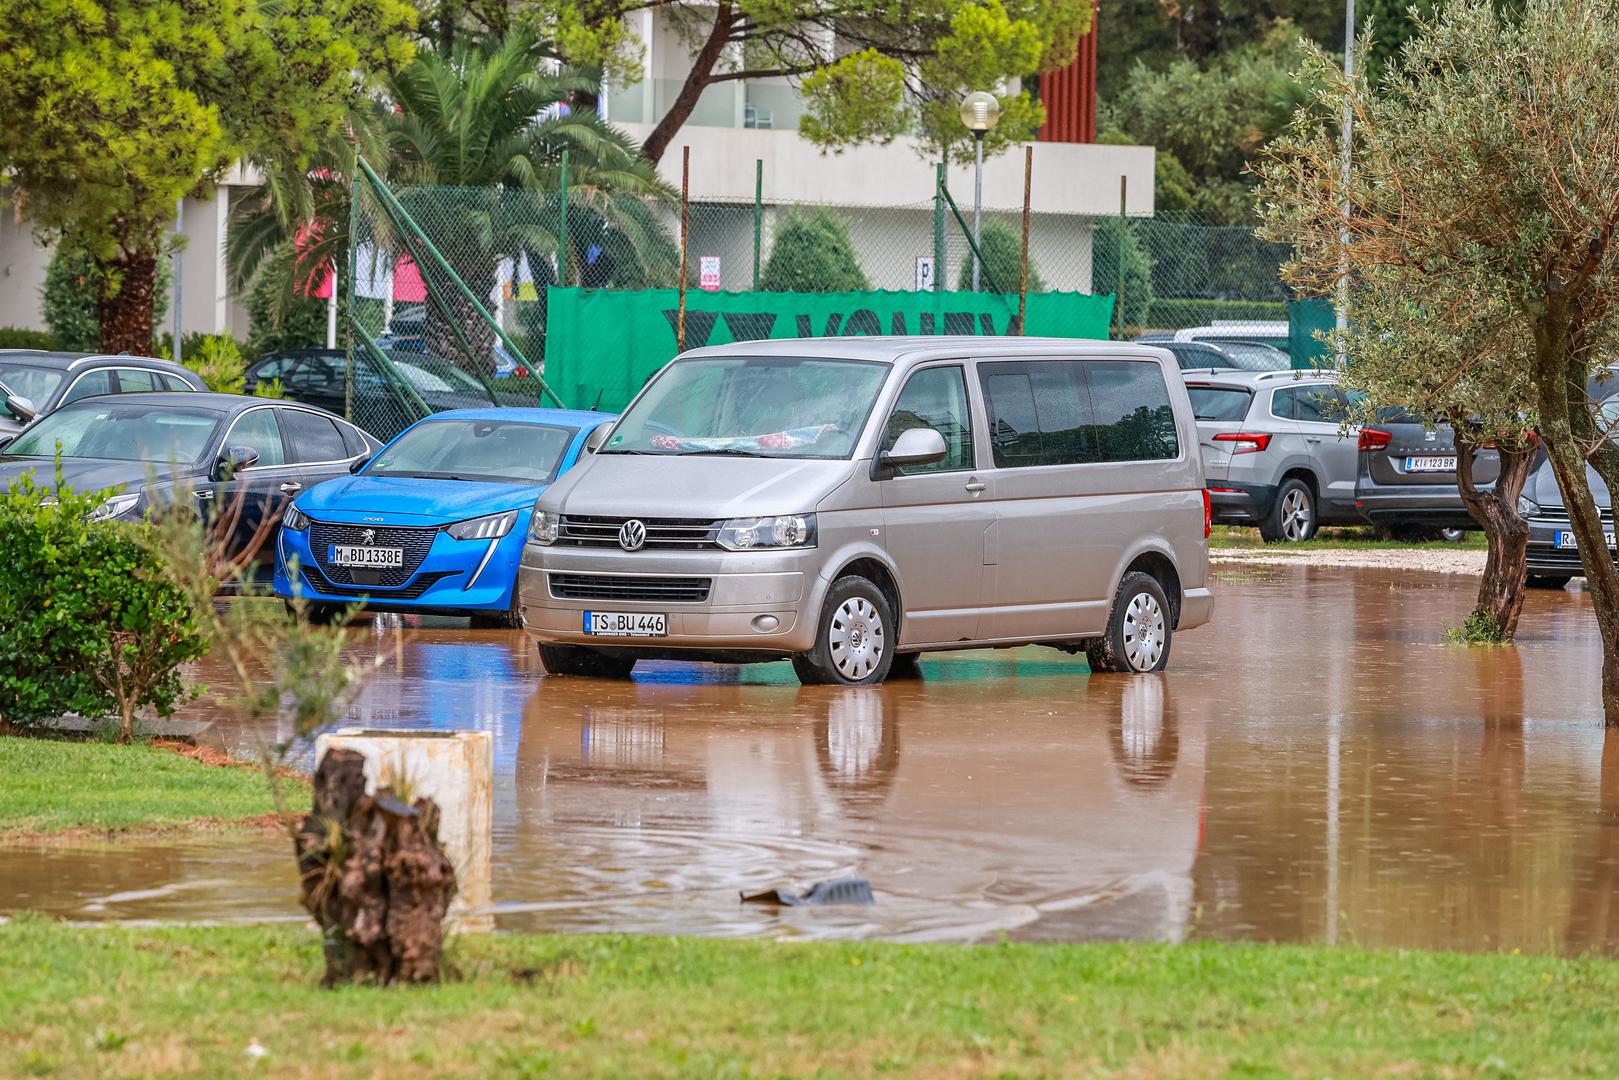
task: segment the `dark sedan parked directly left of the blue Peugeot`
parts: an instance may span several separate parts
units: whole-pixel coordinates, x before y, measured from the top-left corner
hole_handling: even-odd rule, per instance
[[[230,555],[246,555],[254,576],[269,580],[283,505],[346,476],[377,447],[353,424],[293,402],[207,392],[94,397],[0,440],[0,486],[23,473],[49,483],[60,453],[63,483],[112,492],[99,518],[194,500],[206,517],[228,515]]]

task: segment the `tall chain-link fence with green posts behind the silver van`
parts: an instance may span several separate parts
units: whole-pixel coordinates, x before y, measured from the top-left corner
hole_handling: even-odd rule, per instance
[[[1056,332],[1195,338],[1250,356],[1269,348],[1266,363],[1282,364],[1318,350],[1290,327],[1279,277],[1287,249],[1250,228],[1033,212],[1025,279],[1022,209],[986,207],[975,244],[971,206],[954,196],[861,207],[693,196],[682,300],[677,201],[578,188],[390,189],[368,170],[350,228],[345,411],[387,437],[444,408],[620,408],[682,343],[746,337],[1070,327]],[[547,291],[557,285],[570,291]],[[644,296],[646,321],[633,332],[617,317],[597,322],[623,345],[581,350],[593,327],[573,319],[560,338],[555,327],[568,321],[550,309],[575,313],[586,295],[576,290]],[[1106,301],[1090,301],[1083,319],[1051,314],[1083,298]]]

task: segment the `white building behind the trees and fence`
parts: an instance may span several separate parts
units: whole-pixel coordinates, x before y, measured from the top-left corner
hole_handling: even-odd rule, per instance
[[[646,44],[643,78],[633,86],[609,87],[602,104],[609,120],[644,139],[680,91],[690,65],[688,47],[667,13],[654,8],[631,16],[631,29]],[[1093,39],[1086,40],[1090,53],[1081,49],[1080,66],[1086,55],[1094,55]],[[1093,115],[1094,104],[1090,108]],[[722,288],[751,287],[754,162],[763,162],[764,259],[784,209],[829,206],[848,223],[874,288],[915,288],[918,257],[934,254],[934,165],[910,139],[824,154],[800,138],[801,113],[801,100],[787,79],[727,81],[703,92],[659,164],[678,188],[682,149],[691,151],[693,275],[704,256],[719,257]],[[1085,219],[1119,212],[1120,180],[1128,212],[1153,212],[1153,149],[1060,141],[1033,146],[1031,262],[1047,288],[1091,291],[1091,227]],[[253,176],[236,170],[207,198],[186,199],[180,295],[188,334],[248,335],[246,311],[225,287],[225,227],[230,201],[251,183]],[[947,185],[962,214],[970,217],[971,164],[952,164]],[[1023,154],[1012,151],[986,162],[983,185],[986,210],[1012,220],[1023,204]],[[967,246],[954,220],[947,220],[945,235],[945,266],[934,272],[950,288]],[[0,215],[0,325],[44,327],[39,290],[47,262],[49,253],[34,243],[28,223]],[[1111,291],[1111,283],[1098,283],[1098,290]]]

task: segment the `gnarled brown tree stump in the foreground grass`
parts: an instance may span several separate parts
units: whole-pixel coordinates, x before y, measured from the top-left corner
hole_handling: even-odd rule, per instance
[[[366,795],[366,758],[330,750],[296,836],[300,899],[325,939],[322,986],[439,978],[455,866],[439,847],[439,806],[389,787]]]

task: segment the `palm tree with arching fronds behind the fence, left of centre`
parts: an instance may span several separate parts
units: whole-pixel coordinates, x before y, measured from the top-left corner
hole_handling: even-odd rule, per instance
[[[244,288],[285,244],[300,249],[298,274],[342,264],[350,246],[350,178],[356,154],[372,164],[406,212],[481,301],[502,259],[528,256],[536,283],[555,280],[562,152],[568,151],[567,277],[578,282],[586,251],[607,257],[609,280],[630,287],[674,280],[678,249],[651,202],[672,189],[633,139],[597,113],[565,108],[597,83],[575,71],[544,70],[539,42],[526,34],[486,44],[458,39],[448,50],[423,49],[387,79],[387,100],[356,112],[346,130],[309,165],[262,162],[266,183],[232,212],[230,283]],[[384,257],[421,246],[393,227],[369,191],[355,222],[358,243]],[[494,332],[436,267],[421,266],[447,304],[429,304],[427,348],[489,363]],[[437,275],[437,277],[436,277]],[[287,298],[293,298],[293,282]],[[447,317],[448,316],[448,317]],[[452,325],[453,324],[453,325]],[[465,356],[455,327],[468,337]]]

